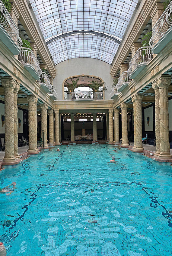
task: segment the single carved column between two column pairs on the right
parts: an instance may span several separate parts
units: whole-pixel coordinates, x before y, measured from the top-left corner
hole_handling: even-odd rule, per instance
[[[122,147],[128,147],[128,126],[127,126],[127,107],[126,103],[121,104],[121,121],[122,121]]]

